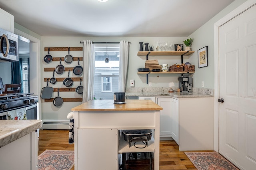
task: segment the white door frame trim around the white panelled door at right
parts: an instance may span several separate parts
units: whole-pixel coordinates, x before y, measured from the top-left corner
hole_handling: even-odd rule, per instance
[[[214,23],[214,150],[216,152],[219,150],[219,27],[254,5],[256,0],[248,0]]]

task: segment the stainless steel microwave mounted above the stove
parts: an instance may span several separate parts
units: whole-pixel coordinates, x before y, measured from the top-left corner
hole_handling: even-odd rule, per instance
[[[0,29],[0,62],[18,60],[18,35]]]

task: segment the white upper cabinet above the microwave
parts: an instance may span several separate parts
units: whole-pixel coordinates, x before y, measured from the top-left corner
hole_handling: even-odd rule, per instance
[[[14,16],[0,8],[0,28],[14,33]]]

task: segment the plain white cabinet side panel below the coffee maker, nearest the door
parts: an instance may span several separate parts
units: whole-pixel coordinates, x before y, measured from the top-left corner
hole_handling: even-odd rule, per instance
[[[214,98],[179,98],[180,150],[213,150]]]

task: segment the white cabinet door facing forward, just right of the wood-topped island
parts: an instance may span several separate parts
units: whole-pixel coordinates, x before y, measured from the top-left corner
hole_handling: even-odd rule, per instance
[[[171,99],[157,98],[157,104],[163,108],[160,110],[160,137],[172,135]]]

